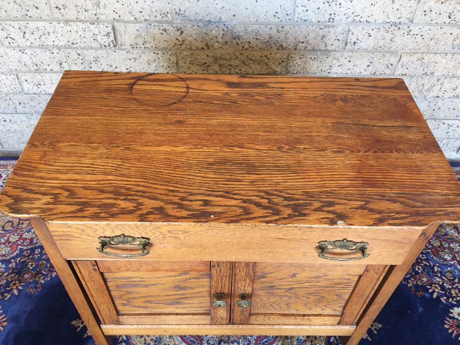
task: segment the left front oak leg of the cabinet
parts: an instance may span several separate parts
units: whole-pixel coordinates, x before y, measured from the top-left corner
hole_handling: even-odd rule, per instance
[[[68,262],[61,256],[61,253],[50,234],[47,223],[43,218],[32,217],[30,218],[35,232],[38,235],[44,249],[50,257],[51,263],[59,278],[64,284],[65,290],[71,297],[72,302],[80,313],[89,333],[93,336],[97,345],[109,345],[112,343],[113,336],[105,336],[99,326],[98,318],[94,311],[93,306],[88,302],[87,297],[80,288],[80,285],[72,271]]]

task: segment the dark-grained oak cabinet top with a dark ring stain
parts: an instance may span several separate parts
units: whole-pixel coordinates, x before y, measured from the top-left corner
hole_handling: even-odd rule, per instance
[[[402,79],[64,73],[0,209],[50,221],[426,226],[460,185]]]

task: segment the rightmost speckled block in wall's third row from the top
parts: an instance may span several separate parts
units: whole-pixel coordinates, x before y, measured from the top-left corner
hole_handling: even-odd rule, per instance
[[[402,53],[396,68],[400,75],[458,75],[460,54]]]

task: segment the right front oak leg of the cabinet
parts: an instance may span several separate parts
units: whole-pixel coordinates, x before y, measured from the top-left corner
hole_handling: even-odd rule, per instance
[[[400,265],[392,266],[388,269],[385,278],[383,278],[382,283],[380,283],[371,301],[358,319],[353,334],[350,337],[342,337],[342,345],[356,345],[361,340],[439,225],[440,222],[436,222],[426,227],[404,261]]]

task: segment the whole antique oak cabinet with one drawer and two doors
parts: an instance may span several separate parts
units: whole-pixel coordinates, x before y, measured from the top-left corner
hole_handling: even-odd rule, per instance
[[[65,72],[0,209],[112,335],[356,344],[459,184],[404,81]]]

